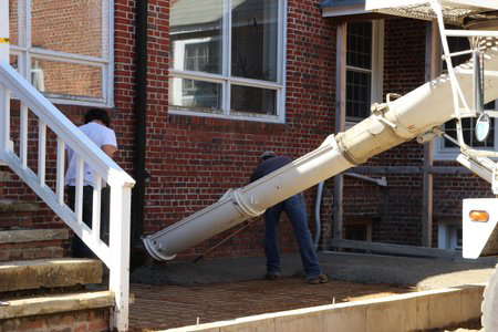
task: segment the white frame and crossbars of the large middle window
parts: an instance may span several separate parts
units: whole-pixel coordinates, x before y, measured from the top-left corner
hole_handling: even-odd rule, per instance
[[[205,82],[218,83],[221,85],[221,111],[222,114],[199,112],[195,110],[174,110],[169,107],[169,114],[195,115],[205,117],[222,117],[230,120],[245,120],[269,123],[286,122],[286,68],[287,68],[287,0],[278,0],[278,49],[277,49],[277,82],[260,81],[231,76],[231,0],[224,0],[222,18],[222,73],[211,74],[203,72],[183,71],[169,69],[172,79],[200,80]],[[183,61],[183,60],[181,60]],[[230,85],[241,85],[247,87],[267,89],[276,91],[276,115],[251,114],[247,112],[230,111]],[[174,90],[169,86],[169,93]]]

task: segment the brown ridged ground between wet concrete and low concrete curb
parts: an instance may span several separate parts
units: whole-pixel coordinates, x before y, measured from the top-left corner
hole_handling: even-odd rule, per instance
[[[307,284],[302,278],[253,280],[209,286],[132,284],[131,331],[158,331],[240,317],[414,291],[388,284],[330,281]]]

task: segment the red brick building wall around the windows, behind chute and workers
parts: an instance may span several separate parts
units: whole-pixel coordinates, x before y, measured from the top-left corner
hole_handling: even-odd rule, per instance
[[[120,145],[116,162],[131,174],[134,156],[135,3],[133,0],[116,0],[114,21],[116,107],[112,115]],[[262,151],[273,149],[299,157],[317,148],[335,131],[335,25],[332,20],[321,17],[318,1],[288,1],[284,124],[168,114],[169,1],[149,0],[148,15],[146,170],[151,178],[146,183],[145,234],[177,222],[215,203],[227,189],[247,184]],[[424,83],[425,27],[425,22],[415,20],[385,21],[384,93],[404,94]],[[15,112],[15,107],[13,110]],[[61,106],[61,110],[81,124],[86,107]],[[14,139],[15,135],[14,131]],[[30,139],[35,144],[35,132],[32,135]],[[54,145],[53,139],[51,142]],[[372,158],[365,165],[422,166],[422,147],[411,142]],[[53,170],[53,156],[50,163]],[[422,175],[385,176],[388,181],[386,188],[345,178],[345,222],[359,216],[374,218],[374,240],[418,245],[422,237]],[[53,179],[53,174],[49,178]],[[321,211],[321,243],[325,248],[332,227],[332,190],[333,181],[328,180]],[[3,193],[8,198],[34,197],[15,181]],[[437,176],[435,215],[437,218],[457,217],[461,197],[486,196],[488,193],[488,187],[473,177]],[[307,190],[305,198],[313,231],[315,188]],[[40,218],[42,227],[60,225],[50,212]],[[179,259],[205,252],[231,231],[187,250]],[[263,222],[257,219],[249,229],[210,257],[261,255],[262,238]],[[282,222],[281,238],[284,251],[295,250],[289,222]]]

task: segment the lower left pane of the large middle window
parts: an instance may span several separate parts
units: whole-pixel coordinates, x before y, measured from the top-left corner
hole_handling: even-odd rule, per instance
[[[221,84],[181,77],[169,79],[172,110],[222,113]]]

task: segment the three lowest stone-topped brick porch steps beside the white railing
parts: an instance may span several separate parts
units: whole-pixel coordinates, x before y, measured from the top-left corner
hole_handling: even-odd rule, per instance
[[[68,237],[66,229],[0,231],[0,257],[21,257],[0,262],[0,331],[110,330],[114,294],[100,287],[102,262],[63,258]],[[48,257],[25,259],[37,255]]]

